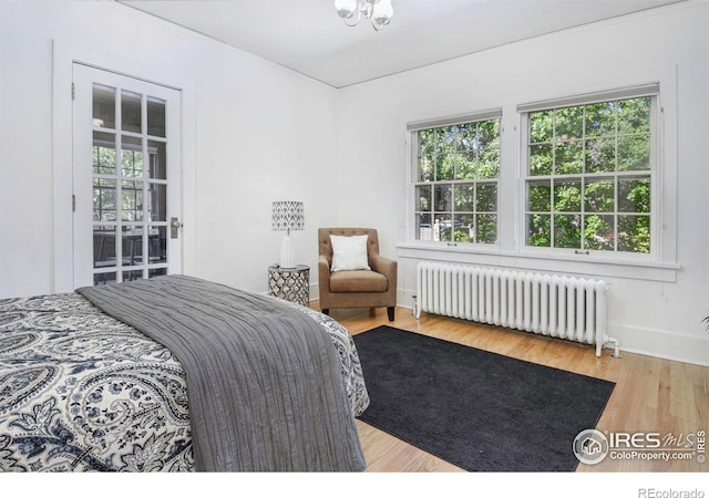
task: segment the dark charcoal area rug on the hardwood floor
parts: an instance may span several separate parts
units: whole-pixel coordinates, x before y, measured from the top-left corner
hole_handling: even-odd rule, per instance
[[[371,400],[359,418],[470,471],[575,470],[574,438],[615,386],[387,325],[354,343]]]

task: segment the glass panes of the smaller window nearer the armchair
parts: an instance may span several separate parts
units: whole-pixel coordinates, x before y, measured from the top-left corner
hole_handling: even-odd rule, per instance
[[[495,243],[500,111],[409,125],[414,238]]]

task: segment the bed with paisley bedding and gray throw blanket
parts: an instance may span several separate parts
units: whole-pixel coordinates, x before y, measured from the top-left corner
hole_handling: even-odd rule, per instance
[[[0,300],[0,471],[363,470],[349,332],[185,276]]]

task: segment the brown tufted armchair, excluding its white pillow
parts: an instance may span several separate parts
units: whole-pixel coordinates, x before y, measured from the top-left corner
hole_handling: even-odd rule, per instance
[[[367,236],[367,262],[370,269],[332,271],[333,248],[330,236]],[[379,237],[373,228],[318,229],[318,283],[320,309],[387,308],[390,321],[397,305],[397,261],[379,255]]]

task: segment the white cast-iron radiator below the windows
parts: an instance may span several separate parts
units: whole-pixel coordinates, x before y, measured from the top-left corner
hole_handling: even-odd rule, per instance
[[[417,267],[414,313],[471,320],[552,338],[606,343],[606,293],[603,280],[511,271],[470,264],[421,261]]]

